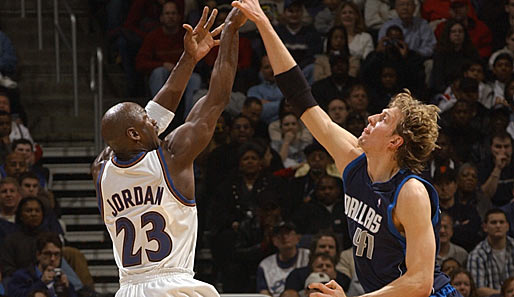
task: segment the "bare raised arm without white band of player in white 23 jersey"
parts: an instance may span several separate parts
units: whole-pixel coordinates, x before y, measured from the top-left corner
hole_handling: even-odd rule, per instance
[[[214,63],[207,95],[193,107],[186,122],[165,139],[164,146],[174,156],[177,166],[189,166],[207,146],[216,122],[230,100],[236,75],[239,47],[239,28],[246,17],[232,9],[221,33],[220,49]]]

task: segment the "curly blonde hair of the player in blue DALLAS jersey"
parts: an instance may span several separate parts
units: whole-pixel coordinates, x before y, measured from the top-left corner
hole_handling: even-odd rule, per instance
[[[414,99],[407,89],[394,96],[389,108],[398,108],[402,114],[395,130],[403,138],[396,152],[398,165],[419,174],[437,147],[439,108]]]

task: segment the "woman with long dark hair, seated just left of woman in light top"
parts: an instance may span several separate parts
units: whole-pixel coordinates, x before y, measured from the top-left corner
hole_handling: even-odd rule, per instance
[[[348,74],[355,76],[356,73],[350,74],[350,69],[358,69],[360,62],[350,56],[346,29],[343,26],[334,26],[330,31],[328,31],[326,39],[326,45],[323,53],[316,55],[316,59],[314,61],[314,82],[332,75],[330,64],[330,57],[332,55],[349,57]]]

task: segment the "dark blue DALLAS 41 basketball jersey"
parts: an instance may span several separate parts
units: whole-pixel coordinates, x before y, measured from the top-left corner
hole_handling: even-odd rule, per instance
[[[421,181],[430,196],[437,255],[439,198],[429,182],[402,169],[387,182],[372,183],[365,154],[353,160],[344,170],[345,213],[350,238],[353,239],[355,269],[366,292],[384,287],[407,271],[406,241],[393,224],[392,211],[401,187],[411,178]],[[449,278],[436,265],[432,293],[438,292],[449,282]]]

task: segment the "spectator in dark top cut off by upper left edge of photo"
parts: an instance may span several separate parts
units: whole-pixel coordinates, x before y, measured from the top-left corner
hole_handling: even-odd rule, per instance
[[[18,84],[11,78],[16,72],[16,52],[7,35],[0,31],[0,86],[16,88]]]

